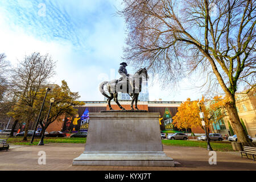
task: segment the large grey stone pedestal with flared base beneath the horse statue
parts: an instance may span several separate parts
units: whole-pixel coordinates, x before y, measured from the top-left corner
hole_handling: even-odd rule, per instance
[[[85,151],[76,166],[168,166],[159,113],[90,113]]]

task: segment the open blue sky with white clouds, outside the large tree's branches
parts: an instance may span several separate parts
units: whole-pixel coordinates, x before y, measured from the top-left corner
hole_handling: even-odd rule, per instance
[[[101,101],[101,81],[118,78],[125,45],[125,22],[115,15],[118,0],[1,0],[0,52],[13,65],[32,52],[49,53],[57,61],[52,83],[66,80],[81,100]],[[133,68],[127,67],[129,73]],[[184,101],[200,94],[181,82],[176,92],[161,89],[157,78],[149,82],[150,100]],[[191,85],[192,86],[192,85]]]

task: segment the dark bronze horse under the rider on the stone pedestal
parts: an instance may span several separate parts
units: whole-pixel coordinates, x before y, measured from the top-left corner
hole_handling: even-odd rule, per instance
[[[131,110],[134,110],[133,104],[135,101],[135,109],[139,110],[137,107],[137,102],[138,102],[138,97],[139,93],[142,90],[142,78],[148,79],[147,75],[147,69],[146,68],[141,68],[139,69],[133,76],[131,77],[124,77],[122,80],[112,80],[112,81],[104,81],[100,84],[100,92],[102,95],[108,98],[107,102],[109,105],[109,109],[113,110],[110,104],[110,101],[113,100],[117,105],[119,106],[120,109],[125,110],[119,102],[118,102],[118,92],[122,93],[128,93],[129,96],[132,98],[131,101]],[[104,91],[104,86],[106,85],[108,94]]]

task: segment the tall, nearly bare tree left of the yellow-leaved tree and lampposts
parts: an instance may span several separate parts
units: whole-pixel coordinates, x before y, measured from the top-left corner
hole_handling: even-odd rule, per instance
[[[9,114],[26,122],[23,140],[27,140],[28,127],[35,118],[37,109],[34,106],[40,89],[48,84],[49,78],[55,74],[55,62],[49,55],[38,52],[26,56],[13,70],[10,92],[16,98],[14,109]]]

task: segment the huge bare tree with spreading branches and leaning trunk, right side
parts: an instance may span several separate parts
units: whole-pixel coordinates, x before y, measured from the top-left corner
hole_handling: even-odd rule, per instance
[[[235,93],[255,88],[255,0],[123,0],[124,59],[147,66],[169,83],[203,73],[224,91],[238,141],[249,142]],[[172,82],[170,82],[172,81]]]

